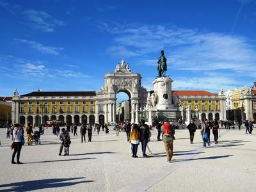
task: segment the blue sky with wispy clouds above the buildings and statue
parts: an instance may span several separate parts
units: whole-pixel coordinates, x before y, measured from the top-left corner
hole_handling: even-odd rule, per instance
[[[152,90],[164,49],[173,90],[256,81],[256,1],[0,0],[0,95],[92,91],[125,59]]]

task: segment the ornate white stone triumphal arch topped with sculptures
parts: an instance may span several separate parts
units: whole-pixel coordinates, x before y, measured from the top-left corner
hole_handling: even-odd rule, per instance
[[[99,120],[96,122],[116,122],[116,94],[125,92],[131,102],[131,122],[138,123],[138,111],[147,104],[147,90],[141,86],[141,75],[131,72],[124,60],[118,63],[115,72],[106,74],[104,86],[96,95],[96,109]],[[104,115],[100,112],[104,111]]]

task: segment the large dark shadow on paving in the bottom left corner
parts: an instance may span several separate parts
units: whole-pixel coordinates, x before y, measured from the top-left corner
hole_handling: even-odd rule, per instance
[[[40,179],[40,180],[13,182],[10,184],[0,185],[0,191],[34,191],[39,189],[62,188],[66,186],[74,186],[76,184],[94,181],[94,180],[82,180],[77,182],[67,182],[68,180],[83,179],[83,178],[84,177],[67,178],[67,179]],[[8,189],[1,189],[1,188],[8,188]]]

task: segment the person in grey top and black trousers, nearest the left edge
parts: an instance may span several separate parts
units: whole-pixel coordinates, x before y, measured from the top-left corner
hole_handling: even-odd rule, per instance
[[[22,164],[20,162],[20,150],[22,148],[22,136],[23,136],[23,133],[22,133],[22,130],[20,129],[20,125],[15,124],[14,129],[13,129],[14,150],[13,150],[13,154],[12,154],[12,164],[16,164],[16,162],[14,161],[16,153],[17,153],[17,164]]]

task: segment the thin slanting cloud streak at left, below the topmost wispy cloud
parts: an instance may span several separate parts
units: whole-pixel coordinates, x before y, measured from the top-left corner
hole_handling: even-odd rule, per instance
[[[64,49],[63,47],[44,46],[38,42],[29,41],[21,38],[15,38],[14,40],[23,44],[28,44],[29,47],[35,49],[36,51],[44,52],[47,54],[60,55],[60,51]]]

